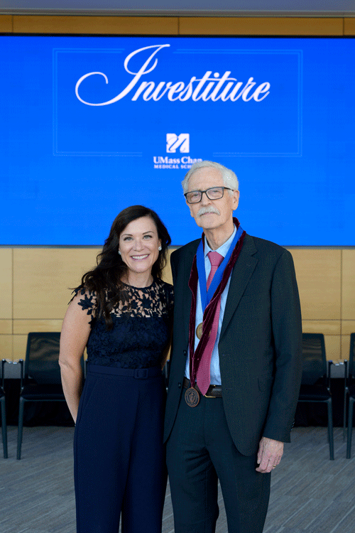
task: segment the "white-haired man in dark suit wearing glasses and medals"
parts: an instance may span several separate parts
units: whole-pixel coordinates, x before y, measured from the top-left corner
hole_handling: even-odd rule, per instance
[[[182,187],[204,237],[171,256],[165,440],[175,533],[214,532],[218,479],[229,533],[261,533],[302,372],[293,259],[233,218],[239,184],[228,168],[195,163]]]

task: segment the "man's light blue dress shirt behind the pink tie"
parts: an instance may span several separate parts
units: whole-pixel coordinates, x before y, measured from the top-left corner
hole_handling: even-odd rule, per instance
[[[236,227],[234,226],[234,232],[231,234],[229,239],[226,242],[224,242],[222,246],[217,248],[215,252],[218,252],[223,257],[226,257],[226,254],[229,250],[229,247],[231,246],[231,242],[233,241],[235,235],[236,235]],[[206,279],[208,279],[209,272],[211,271],[211,263],[209,262],[209,258],[207,257],[208,252],[211,252],[211,251],[212,249],[209,247],[207,239],[204,239],[204,269],[206,270]],[[229,289],[230,283],[231,283],[231,276],[229,276],[229,280],[227,281],[226,287],[221,295],[221,311],[219,312],[217,337],[216,337],[216,342],[214,343],[214,348],[212,350],[212,357],[211,357],[211,367],[210,367],[211,382],[210,383],[212,385],[222,384],[221,383],[221,372],[219,370],[218,343],[219,343],[219,335],[221,334],[224,309],[226,308],[226,297],[228,296],[228,289]],[[198,343],[200,342],[200,339],[197,338],[197,335],[196,335],[196,328],[197,328],[197,325],[199,325],[202,321],[203,321],[203,312],[202,312],[202,304],[201,304],[200,284],[197,284],[195,350],[197,348]],[[187,350],[185,377],[187,377],[187,379],[190,379],[190,350]]]

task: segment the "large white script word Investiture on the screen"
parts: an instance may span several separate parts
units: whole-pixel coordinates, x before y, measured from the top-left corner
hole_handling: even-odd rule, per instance
[[[82,75],[75,85],[75,95],[77,99],[82,102],[82,104],[90,106],[103,106],[110,105],[119,100],[124,99],[125,97],[131,97],[133,102],[141,99],[143,102],[148,102],[149,100],[153,102],[158,102],[163,97],[167,98],[170,102],[187,102],[187,100],[192,100],[193,102],[262,102],[270,94],[270,83],[269,82],[256,82],[253,77],[249,77],[248,80],[238,81],[236,77],[231,77],[231,70],[226,70],[224,74],[219,72],[213,72],[213,70],[207,70],[203,75],[192,76],[188,81],[157,81],[153,82],[152,80],[146,81],[143,80],[143,77],[147,77],[148,74],[153,72],[158,65],[158,58],[155,57],[160,53],[160,50],[163,48],[170,48],[170,44],[163,45],[151,45],[144,46],[143,48],[138,48],[138,50],[133,50],[124,60],[124,70],[132,76],[131,81],[126,87],[119,88],[119,93],[116,93],[116,96],[111,97],[104,102],[87,102],[81,94],[82,88],[84,85],[87,85],[88,78],[92,76],[101,76],[103,78],[102,82],[109,85],[109,78],[104,72],[87,72],[87,74]],[[146,55],[140,56],[141,52],[145,50],[151,50],[151,55],[148,59],[144,60]],[[141,57],[142,63],[141,67],[131,70],[131,59],[135,58],[135,62]],[[139,63],[138,63],[139,64]],[[162,77],[165,77],[164,72]],[[166,77],[165,77],[166,79]],[[104,89],[103,84],[103,89]],[[109,92],[115,91],[117,87],[111,87],[107,90]]]

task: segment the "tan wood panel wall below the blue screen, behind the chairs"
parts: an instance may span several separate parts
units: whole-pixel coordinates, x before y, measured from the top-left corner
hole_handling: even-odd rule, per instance
[[[349,354],[355,331],[355,249],[290,248],[302,305],[303,330],[324,333],[327,357]],[[99,249],[0,249],[0,357],[24,356],[29,331],[59,331],[84,271]],[[171,281],[170,267],[165,269]]]

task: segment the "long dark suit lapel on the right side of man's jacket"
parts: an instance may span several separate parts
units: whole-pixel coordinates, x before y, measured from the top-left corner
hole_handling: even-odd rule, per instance
[[[226,308],[224,309],[220,338],[222,338],[227,325],[231,321],[231,317],[234,315],[234,311],[236,311],[241,296],[243,296],[246,286],[248,285],[251,275],[258,263],[258,259],[253,257],[253,254],[256,252],[257,249],[253,242],[253,237],[246,235],[243,248],[241,249],[241,253],[231,273],[231,283],[226,298]]]

